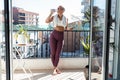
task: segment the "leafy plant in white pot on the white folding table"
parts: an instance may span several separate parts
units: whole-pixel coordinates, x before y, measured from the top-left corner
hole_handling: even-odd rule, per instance
[[[27,30],[22,25],[19,25],[19,30],[15,33],[14,38],[18,44],[26,44],[29,41],[30,36],[27,33]]]

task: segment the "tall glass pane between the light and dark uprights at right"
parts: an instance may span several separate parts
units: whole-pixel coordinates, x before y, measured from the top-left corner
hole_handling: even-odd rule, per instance
[[[102,80],[103,28],[105,27],[105,0],[94,0],[92,26],[91,79]]]

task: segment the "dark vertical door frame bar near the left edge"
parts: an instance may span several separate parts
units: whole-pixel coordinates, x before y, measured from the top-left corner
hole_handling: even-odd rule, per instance
[[[6,62],[6,80],[11,80],[10,66],[10,0],[4,1],[4,24],[5,24],[5,62]]]

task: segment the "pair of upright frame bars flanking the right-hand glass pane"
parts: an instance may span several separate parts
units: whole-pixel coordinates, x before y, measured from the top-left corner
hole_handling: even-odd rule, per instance
[[[94,0],[90,0],[91,14],[93,13]],[[109,61],[109,33],[110,33],[110,15],[111,15],[111,0],[106,0],[105,4],[105,27],[103,29],[103,57],[102,57],[102,80],[108,80],[108,61]],[[93,16],[90,21],[90,55],[89,55],[89,80],[91,80],[92,67],[92,27]]]

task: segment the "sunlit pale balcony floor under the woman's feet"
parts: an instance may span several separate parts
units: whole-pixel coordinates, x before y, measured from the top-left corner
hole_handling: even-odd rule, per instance
[[[52,75],[52,70],[32,70],[32,73],[28,73],[27,75],[21,71],[15,71],[13,74],[13,80],[29,80],[28,76],[31,80],[86,80],[83,69],[77,70],[61,70],[62,73],[58,75]],[[92,80],[101,80],[100,74],[92,73],[94,77]],[[2,79],[5,80],[5,75],[2,75]]]

